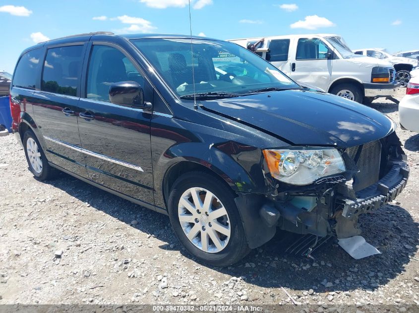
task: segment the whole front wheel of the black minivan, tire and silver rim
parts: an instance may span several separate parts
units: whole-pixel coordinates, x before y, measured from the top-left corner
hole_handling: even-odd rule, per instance
[[[226,267],[250,251],[233,193],[211,175],[192,172],[181,176],[168,204],[176,236],[198,260]]]

